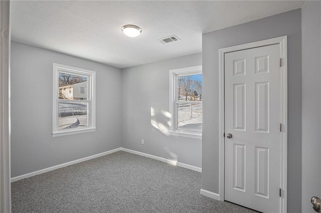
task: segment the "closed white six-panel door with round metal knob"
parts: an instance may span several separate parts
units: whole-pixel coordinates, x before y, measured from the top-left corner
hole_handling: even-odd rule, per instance
[[[224,58],[225,200],[279,212],[280,44]]]

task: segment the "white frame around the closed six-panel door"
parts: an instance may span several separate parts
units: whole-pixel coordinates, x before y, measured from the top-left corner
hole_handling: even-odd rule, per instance
[[[261,40],[226,48],[219,49],[219,200],[224,201],[224,189],[225,189],[225,106],[224,106],[224,60],[225,53],[232,51],[239,51],[249,48],[261,47],[272,44],[280,44],[280,122],[281,122],[281,132],[280,132],[280,212],[287,212],[287,35],[271,38],[267,40]]]

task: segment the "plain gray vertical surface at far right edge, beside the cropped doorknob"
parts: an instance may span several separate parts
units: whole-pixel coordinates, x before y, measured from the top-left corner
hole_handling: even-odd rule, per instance
[[[312,196],[321,197],[321,1],[302,7],[302,212],[315,212]]]

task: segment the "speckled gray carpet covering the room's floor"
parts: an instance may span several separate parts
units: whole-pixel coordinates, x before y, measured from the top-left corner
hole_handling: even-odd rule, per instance
[[[255,212],[200,189],[200,172],[118,151],[13,182],[12,212]]]

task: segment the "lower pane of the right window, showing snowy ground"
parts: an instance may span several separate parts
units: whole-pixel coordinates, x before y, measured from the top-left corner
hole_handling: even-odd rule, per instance
[[[202,103],[178,103],[177,129],[202,132]]]

